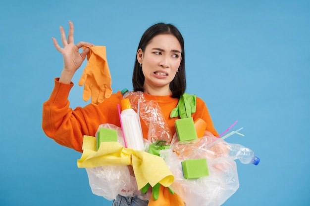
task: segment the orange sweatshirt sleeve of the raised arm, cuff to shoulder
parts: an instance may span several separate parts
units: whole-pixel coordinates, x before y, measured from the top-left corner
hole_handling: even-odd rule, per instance
[[[120,126],[117,104],[122,94],[118,91],[98,106],[89,104],[72,110],[69,107],[69,92],[73,86],[54,80],[50,98],[43,103],[42,128],[45,134],[65,147],[83,152],[84,135],[95,136],[100,124]]]

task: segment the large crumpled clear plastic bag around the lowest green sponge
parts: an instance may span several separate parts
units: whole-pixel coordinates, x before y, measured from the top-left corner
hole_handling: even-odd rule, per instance
[[[236,162],[219,154],[226,149],[221,144],[207,145],[218,140],[211,133],[193,142],[178,142],[173,137],[169,149],[159,152],[174,175],[169,186],[188,206],[220,206],[239,188]],[[181,162],[188,159],[206,158],[209,176],[185,179]]]

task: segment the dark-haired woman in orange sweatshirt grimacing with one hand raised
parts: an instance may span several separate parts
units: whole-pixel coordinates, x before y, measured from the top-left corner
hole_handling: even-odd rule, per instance
[[[69,22],[69,26],[68,40],[60,27],[63,48],[52,38],[54,46],[63,55],[64,68],[60,78],[54,80],[51,97],[43,105],[42,127],[46,135],[57,143],[82,152],[83,136],[95,136],[100,124],[120,126],[115,105],[120,104],[123,97],[118,91],[98,106],[89,104],[84,108],[69,108],[68,95],[73,86],[71,79],[84,61],[89,48],[84,49],[82,53],[78,50],[82,46],[93,46],[83,41],[74,44],[73,23]],[[143,91],[147,101],[154,100],[158,103],[171,133],[174,134],[174,123],[179,117],[170,118],[170,112],[178,105],[179,98],[186,88],[184,41],[175,26],[158,23],[146,30],[138,46],[132,80],[134,91]],[[192,117],[194,120],[203,119],[207,123],[207,130],[218,136],[205,102],[198,97],[196,112]],[[147,139],[148,127],[143,121],[141,126],[143,136]],[[114,204],[120,204],[122,198],[128,205],[148,204],[139,198],[132,201],[131,197],[118,197]]]

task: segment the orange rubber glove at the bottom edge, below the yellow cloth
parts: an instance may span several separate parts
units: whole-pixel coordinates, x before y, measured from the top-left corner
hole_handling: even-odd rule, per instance
[[[176,194],[171,194],[167,187],[160,185],[158,199],[154,200],[153,195],[148,206],[184,206],[182,199]]]

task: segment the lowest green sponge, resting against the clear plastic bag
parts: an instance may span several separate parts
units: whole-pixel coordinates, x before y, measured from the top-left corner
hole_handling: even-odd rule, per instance
[[[185,160],[182,162],[183,176],[185,179],[196,179],[209,176],[207,159]]]

